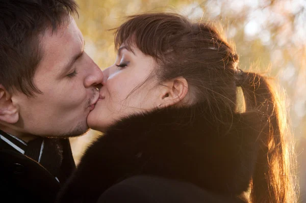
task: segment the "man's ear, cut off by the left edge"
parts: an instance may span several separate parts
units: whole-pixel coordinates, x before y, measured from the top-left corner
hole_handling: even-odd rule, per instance
[[[0,84],[0,122],[15,124],[18,120],[18,107],[13,103],[12,95]]]

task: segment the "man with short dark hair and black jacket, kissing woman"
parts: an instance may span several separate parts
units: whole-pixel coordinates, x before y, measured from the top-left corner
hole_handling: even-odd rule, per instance
[[[53,202],[75,167],[103,73],[84,52],[73,0],[0,2],[0,202]]]

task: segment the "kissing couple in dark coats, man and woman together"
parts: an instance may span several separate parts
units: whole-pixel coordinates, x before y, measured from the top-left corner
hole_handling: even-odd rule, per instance
[[[214,26],[129,16],[101,71],[77,7],[0,4],[1,202],[296,202],[282,102]],[[67,138],[89,128],[75,168]]]

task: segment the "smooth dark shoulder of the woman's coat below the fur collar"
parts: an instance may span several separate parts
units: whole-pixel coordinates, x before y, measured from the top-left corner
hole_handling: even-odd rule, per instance
[[[223,195],[213,194],[194,184],[156,176],[134,176],[112,186],[99,197],[98,203],[241,203]]]

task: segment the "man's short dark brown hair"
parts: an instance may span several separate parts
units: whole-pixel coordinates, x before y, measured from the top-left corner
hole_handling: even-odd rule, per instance
[[[53,32],[77,13],[73,0],[8,0],[0,4],[0,84],[25,95],[41,93],[33,82],[42,57],[39,35]]]

